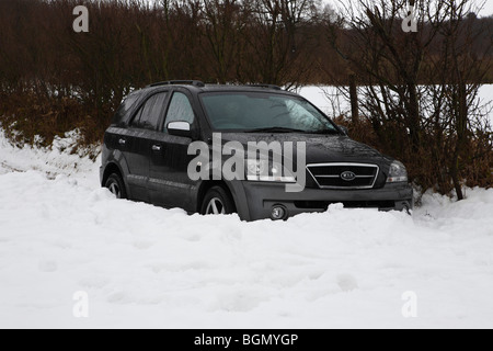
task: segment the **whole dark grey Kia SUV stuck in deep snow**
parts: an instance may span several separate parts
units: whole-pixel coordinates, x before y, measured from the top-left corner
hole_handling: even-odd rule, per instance
[[[213,156],[218,133],[222,145],[303,141],[306,165],[295,165],[303,172],[297,173],[305,178],[302,190],[286,191],[297,177],[283,172],[273,150],[266,163],[245,156],[244,179],[191,177],[191,169],[213,173],[217,168],[214,157],[197,161],[190,146],[202,143]],[[290,157],[295,163],[296,155]],[[102,160],[101,183],[117,197],[188,213],[238,213],[243,220],[256,220],[322,212],[333,203],[382,211],[413,207],[402,163],[352,140],[306,99],[274,86],[169,81],[136,91],[105,133]],[[261,177],[262,169],[268,177]]]

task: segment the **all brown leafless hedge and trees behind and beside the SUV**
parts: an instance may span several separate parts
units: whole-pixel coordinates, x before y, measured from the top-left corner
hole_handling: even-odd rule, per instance
[[[341,121],[353,137],[404,161],[425,189],[491,186],[491,128],[473,117],[479,86],[493,82],[493,18],[460,8],[471,1],[447,1],[448,13],[409,34],[404,0],[354,0],[371,5],[343,14],[314,0],[2,0],[0,123],[19,143],[48,145],[76,127],[96,143],[123,97],[150,82],[295,88],[353,77],[360,116]],[[89,33],[72,30],[80,4]]]

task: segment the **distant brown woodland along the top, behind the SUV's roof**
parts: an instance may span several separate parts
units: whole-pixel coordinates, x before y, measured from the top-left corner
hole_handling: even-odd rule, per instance
[[[168,79],[287,87],[348,81],[347,64],[331,39],[334,31],[345,31],[344,23],[320,1],[151,3],[0,1],[2,92],[28,89],[49,95],[76,94],[104,105],[119,101],[130,87]],[[89,33],[72,30],[72,11],[80,4],[89,9]],[[493,18],[470,14],[470,20],[489,29],[471,52],[483,55],[482,48],[491,46]],[[351,31],[346,32],[351,38]],[[493,71],[478,79],[493,82]]]

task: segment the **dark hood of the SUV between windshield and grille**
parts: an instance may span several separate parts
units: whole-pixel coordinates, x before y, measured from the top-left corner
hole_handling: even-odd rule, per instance
[[[351,139],[342,135],[309,135],[296,133],[223,133],[222,143],[239,141],[246,149],[249,141],[279,141],[282,144],[291,141],[296,144],[306,143],[307,163],[324,163],[324,162],[360,162],[375,163],[380,167],[389,166],[392,160],[381,155],[376,149]],[[295,157],[296,159],[296,157]]]

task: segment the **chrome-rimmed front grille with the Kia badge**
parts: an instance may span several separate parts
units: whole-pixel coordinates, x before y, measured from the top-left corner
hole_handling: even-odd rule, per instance
[[[378,177],[377,165],[308,165],[308,172],[321,189],[371,189]]]

